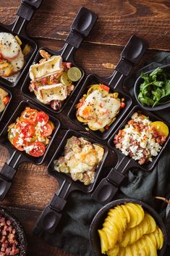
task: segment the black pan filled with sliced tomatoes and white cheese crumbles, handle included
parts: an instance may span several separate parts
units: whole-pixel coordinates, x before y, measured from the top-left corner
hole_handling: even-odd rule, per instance
[[[0,200],[7,194],[21,162],[41,165],[46,160],[59,126],[56,117],[47,115],[29,101],[20,102],[0,134],[1,144],[9,151],[9,160],[0,172],[0,183],[3,184]]]

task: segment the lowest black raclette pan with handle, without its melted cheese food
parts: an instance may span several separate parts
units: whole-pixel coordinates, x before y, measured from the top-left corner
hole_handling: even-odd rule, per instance
[[[104,149],[103,159],[95,170],[94,182],[88,186],[85,186],[84,183],[80,181],[73,181],[69,174],[59,173],[54,170],[54,160],[59,159],[59,157],[64,154],[64,146],[67,144],[67,139],[72,136],[77,136],[78,138],[83,137],[84,139],[92,142],[93,144],[98,144],[99,146],[102,146]],[[57,178],[57,181],[59,181],[59,190],[54,195],[50,204],[45,208],[45,210],[43,210],[41,216],[38,218],[34,229],[35,234],[39,234],[39,232],[41,231],[47,231],[48,233],[53,233],[55,231],[56,226],[61,218],[61,212],[67,203],[66,199],[71,191],[80,190],[85,193],[90,193],[93,191],[108,152],[109,149],[107,146],[99,143],[98,141],[95,141],[94,139],[88,138],[88,136],[85,136],[83,133],[74,130],[67,131],[61,143],[59,144],[59,147],[56,149],[54,157],[51,159],[51,162],[48,165],[48,174],[50,176],[54,176],[54,178]]]

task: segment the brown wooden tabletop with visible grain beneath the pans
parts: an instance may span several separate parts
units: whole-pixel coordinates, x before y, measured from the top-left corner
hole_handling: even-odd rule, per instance
[[[0,21],[12,22],[19,5],[20,0],[1,0]],[[156,52],[170,50],[169,0],[44,0],[28,25],[27,32],[39,46],[47,46],[57,51],[63,46],[70,25],[82,6],[91,9],[99,16],[95,28],[75,56],[77,65],[87,73],[97,73],[105,77],[111,75],[119,60],[122,47],[132,34],[145,38],[149,43],[148,51],[135,69],[143,67],[143,63]],[[66,128],[77,129],[65,116],[68,110],[69,106],[64,113],[59,114],[61,120],[59,139]],[[1,166],[6,159],[7,151],[1,148]],[[57,181],[48,176],[46,165],[35,166],[23,163],[14,178],[7,198],[1,202],[1,205],[10,207],[23,224],[27,233],[30,256],[67,255],[31,234],[35,220],[56,190]]]

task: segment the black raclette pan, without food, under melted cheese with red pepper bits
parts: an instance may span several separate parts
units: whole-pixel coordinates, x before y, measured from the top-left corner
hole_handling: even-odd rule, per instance
[[[143,57],[146,49],[147,43],[143,39],[138,38],[137,36],[132,36],[122,51],[121,59],[116,65],[113,75],[111,75],[109,78],[100,78],[98,77],[98,75],[92,74],[88,75],[82,85],[80,93],[77,95],[74,104],[69,110],[69,119],[72,120],[72,122],[74,122],[76,125],[79,125],[83,130],[87,130],[92,133],[93,136],[98,137],[98,139],[108,139],[109,135],[112,133],[116,125],[119,123],[120,120],[122,120],[125,115],[127,115],[130,107],[132,107],[132,98],[123,91],[123,81],[124,78],[129,75],[132,67],[140,61],[141,57]],[[80,123],[76,117],[76,105],[79,103],[80,99],[82,99],[82,96],[84,94],[87,94],[88,87],[93,84],[99,83],[109,86],[109,88],[111,88],[111,91],[118,92],[119,98],[124,98],[126,104],[126,107],[120,110],[119,115],[116,116],[116,120],[110,125],[109,130],[103,132],[90,130],[88,128],[88,125],[85,125],[85,123]]]

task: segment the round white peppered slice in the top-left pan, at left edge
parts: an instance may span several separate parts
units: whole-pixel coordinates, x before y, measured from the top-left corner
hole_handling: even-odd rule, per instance
[[[21,51],[20,44],[11,33],[0,33],[0,52],[4,59],[12,60]]]

